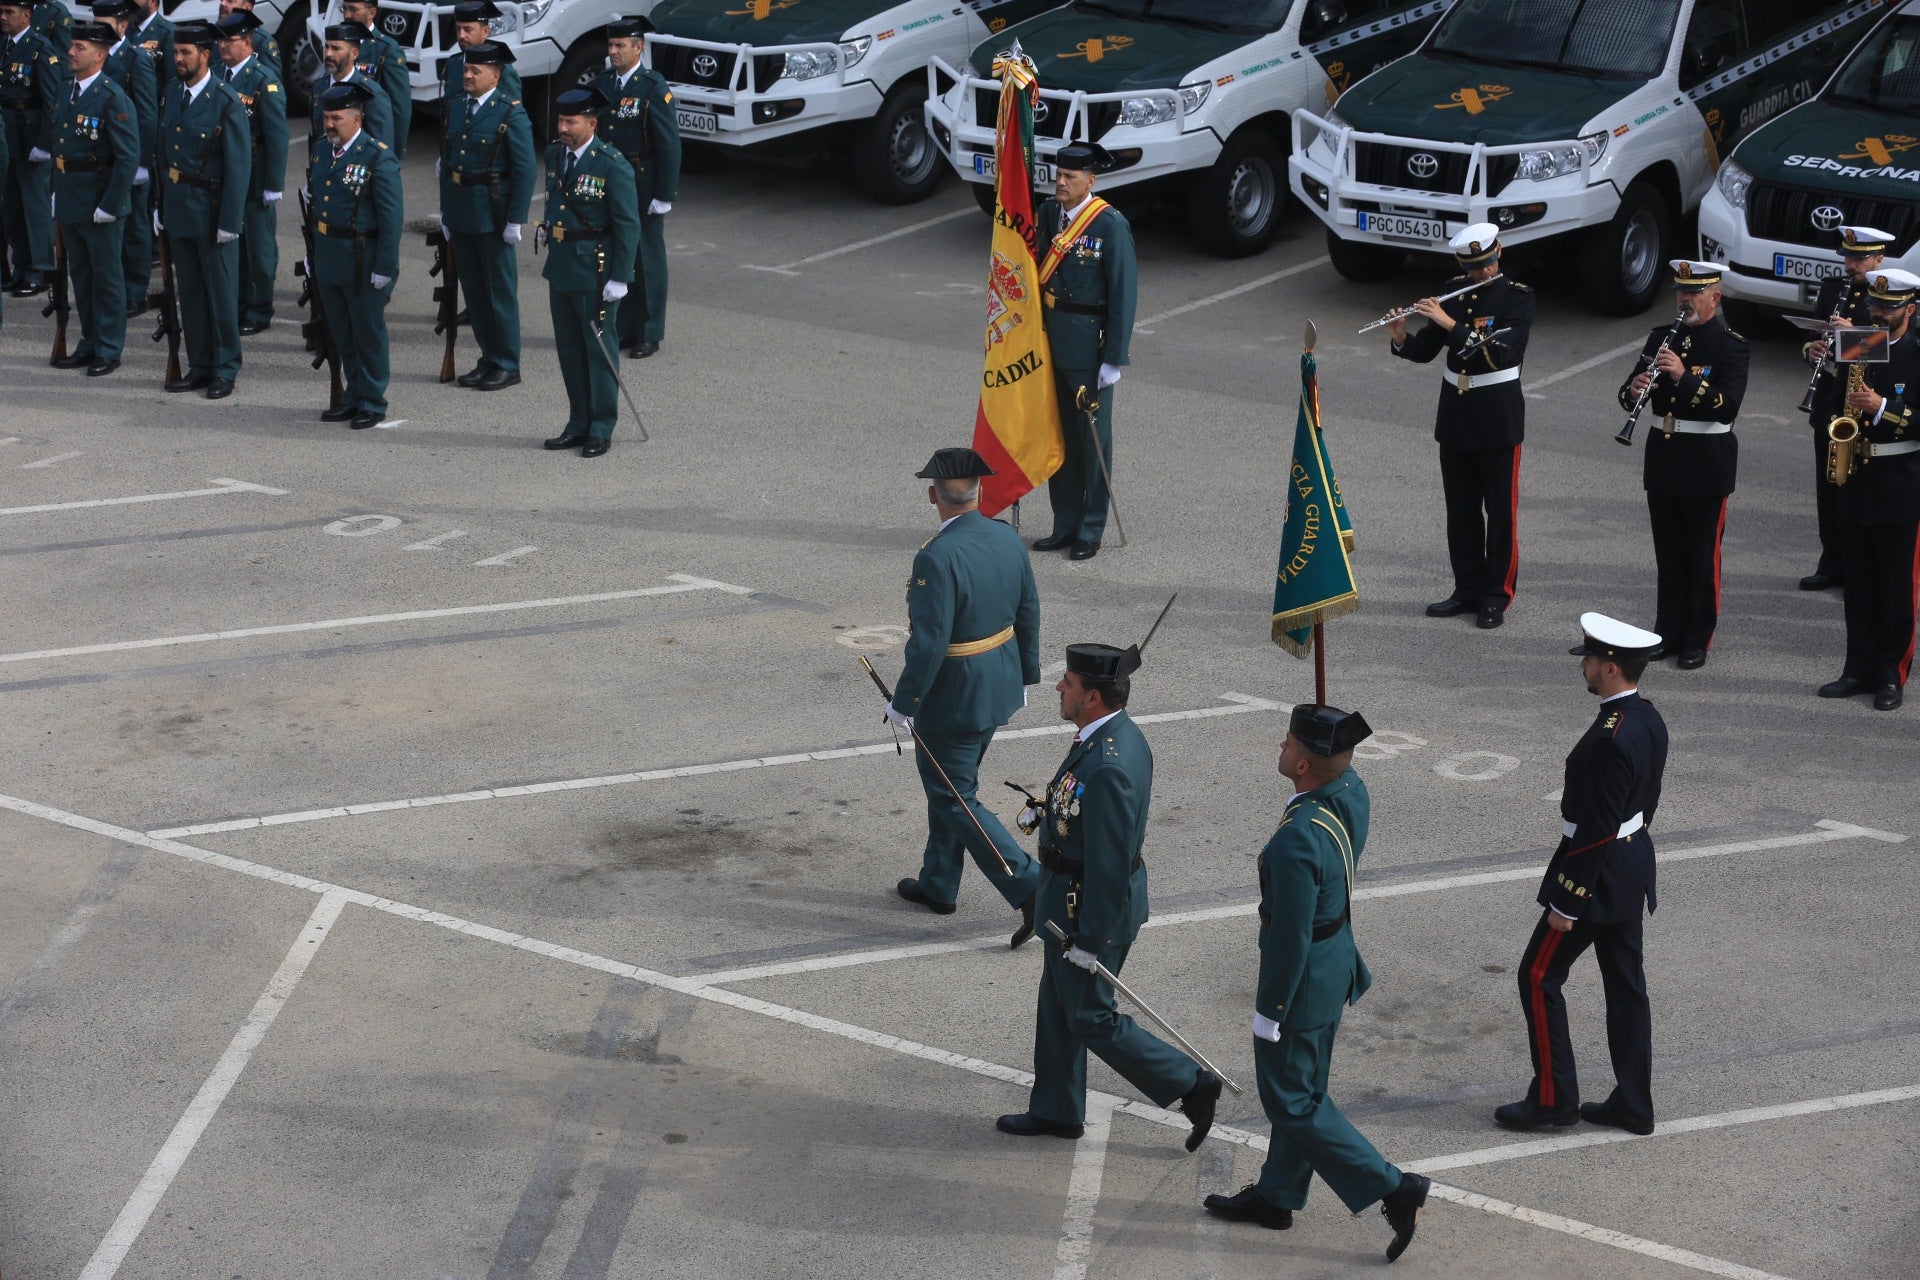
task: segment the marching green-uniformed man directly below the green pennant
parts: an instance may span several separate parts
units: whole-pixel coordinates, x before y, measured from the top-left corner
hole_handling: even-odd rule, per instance
[[[1260,854],[1254,992],[1254,1071],[1273,1142],[1260,1180],[1236,1196],[1208,1196],[1206,1209],[1286,1230],[1317,1173],[1352,1213],[1380,1205],[1394,1228],[1392,1263],[1413,1240],[1432,1184],[1388,1165],[1327,1096],[1340,1015],[1373,984],[1354,942],[1354,873],[1371,812],[1354,748],[1371,735],[1359,712],[1311,702],[1296,706],[1286,727],[1281,779],[1294,794]]]

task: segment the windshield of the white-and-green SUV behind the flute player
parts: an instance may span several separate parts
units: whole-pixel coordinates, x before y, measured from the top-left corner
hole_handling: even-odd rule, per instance
[[[1667,65],[1680,0],[1459,0],[1428,54],[1605,81],[1651,81]]]

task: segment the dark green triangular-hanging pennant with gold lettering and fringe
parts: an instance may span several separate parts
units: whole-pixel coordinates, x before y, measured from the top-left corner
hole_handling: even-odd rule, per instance
[[[1354,585],[1354,522],[1321,438],[1313,351],[1300,355],[1300,420],[1286,478],[1286,530],[1273,580],[1273,643],[1306,658],[1313,626],[1359,608]]]

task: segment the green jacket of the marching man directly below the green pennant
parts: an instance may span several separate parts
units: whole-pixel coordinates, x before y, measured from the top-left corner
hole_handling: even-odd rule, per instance
[[[1296,796],[1260,854],[1260,988],[1256,1009],[1286,1031],[1311,1031],[1373,986],[1354,927],[1313,940],[1348,915],[1367,844],[1367,783],[1348,770]]]

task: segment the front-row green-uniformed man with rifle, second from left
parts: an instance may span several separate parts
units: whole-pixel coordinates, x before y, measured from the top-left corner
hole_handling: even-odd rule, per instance
[[[186,338],[186,372],[169,391],[227,399],[240,376],[240,232],[253,161],[246,106],[213,75],[219,33],[209,23],[173,31],[179,77],[159,107],[157,232],[173,246],[173,286]]]

